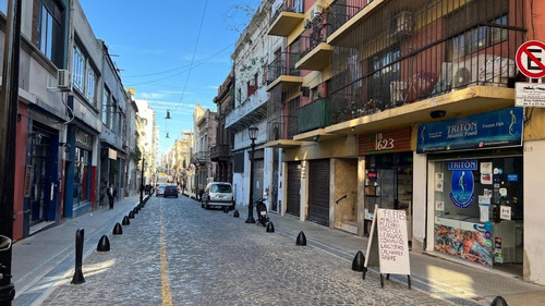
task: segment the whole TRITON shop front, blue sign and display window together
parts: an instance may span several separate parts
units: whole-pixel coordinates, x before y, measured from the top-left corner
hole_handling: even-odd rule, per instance
[[[427,250],[522,276],[523,110],[421,124],[427,154]]]

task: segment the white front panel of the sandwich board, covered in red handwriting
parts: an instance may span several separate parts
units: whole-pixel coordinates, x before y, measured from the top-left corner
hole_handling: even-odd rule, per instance
[[[411,274],[405,211],[377,209],[375,213],[380,273]]]

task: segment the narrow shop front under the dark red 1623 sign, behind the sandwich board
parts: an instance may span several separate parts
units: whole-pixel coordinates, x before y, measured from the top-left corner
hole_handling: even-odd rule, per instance
[[[413,162],[410,127],[360,135],[358,155],[365,159],[364,235],[368,236],[376,208],[405,210],[408,220],[411,220]],[[411,237],[411,227],[408,229]]]

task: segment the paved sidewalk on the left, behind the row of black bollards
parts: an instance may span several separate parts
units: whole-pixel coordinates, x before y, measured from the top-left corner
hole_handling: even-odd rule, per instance
[[[57,227],[14,243],[11,270],[15,299],[12,305],[32,305],[56,279],[74,268],[78,229],[84,229],[85,258],[96,249],[100,237],[110,235],[116,223],[121,223],[138,203],[140,195],[135,195],[119,200],[113,209],[99,206],[95,211],[63,220]]]

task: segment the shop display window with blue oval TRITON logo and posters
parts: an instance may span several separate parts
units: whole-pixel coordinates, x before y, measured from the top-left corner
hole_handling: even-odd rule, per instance
[[[434,161],[434,248],[493,267],[522,262],[522,157]]]

